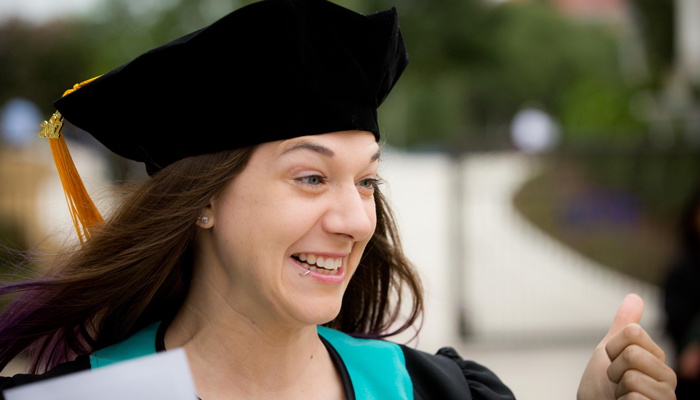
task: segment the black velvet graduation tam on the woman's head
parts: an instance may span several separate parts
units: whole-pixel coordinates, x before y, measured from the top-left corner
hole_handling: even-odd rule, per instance
[[[265,0],[155,48],[54,104],[154,173],[182,158],[362,130],[408,63],[396,9]]]

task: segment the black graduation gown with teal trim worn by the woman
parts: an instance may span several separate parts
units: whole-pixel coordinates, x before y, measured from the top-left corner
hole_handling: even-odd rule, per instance
[[[0,390],[165,351],[167,326],[167,322],[156,322],[121,343],[90,356],[79,356],[43,375],[0,377]],[[318,334],[340,373],[347,400],[515,398],[493,372],[463,360],[451,347],[431,355],[405,345],[358,339],[324,327],[318,327]]]

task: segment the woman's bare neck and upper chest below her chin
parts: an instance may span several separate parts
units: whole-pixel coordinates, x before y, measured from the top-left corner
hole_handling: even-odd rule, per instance
[[[221,280],[193,277],[188,297],[165,333],[166,349],[187,352],[202,399],[310,398],[309,391],[327,394],[329,389],[342,393],[315,325],[252,317],[212,282]]]

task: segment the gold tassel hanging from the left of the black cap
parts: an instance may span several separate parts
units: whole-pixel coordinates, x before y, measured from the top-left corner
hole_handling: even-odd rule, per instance
[[[99,77],[89,79],[85,82],[78,83],[72,89],[66,90],[63,95],[72,93],[78,90],[83,85],[86,85]],[[80,179],[78,170],[75,168],[73,158],[68,151],[66,141],[61,134],[63,129],[63,116],[56,111],[49,121],[44,121],[41,124],[40,137],[49,139],[51,144],[51,153],[53,154],[54,163],[58,170],[58,176],[61,178],[63,192],[68,203],[68,210],[75,231],[78,233],[80,243],[90,239],[90,230],[103,221],[100,212],[97,211],[95,203],[92,202],[90,195],[85,190],[83,180]]]

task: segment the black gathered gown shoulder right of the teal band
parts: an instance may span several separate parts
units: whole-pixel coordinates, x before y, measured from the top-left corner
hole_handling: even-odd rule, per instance
[[[515,399],[496,374],[474,361],[464,360],[451,347],[443,347],[433,355],[399,346],[413,381],[415,399]]]

